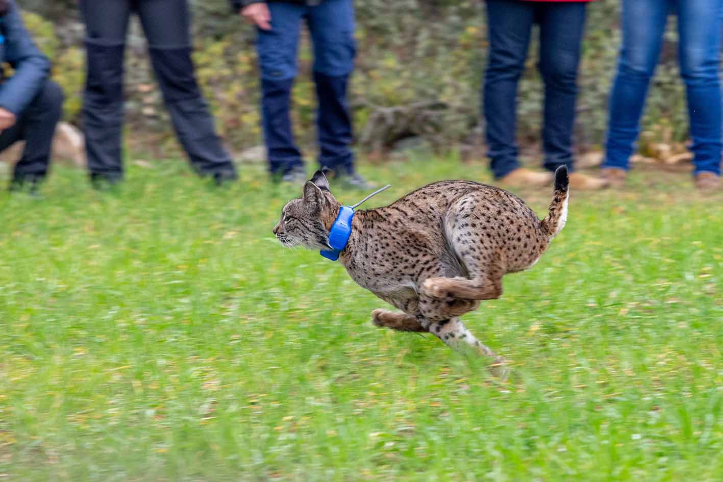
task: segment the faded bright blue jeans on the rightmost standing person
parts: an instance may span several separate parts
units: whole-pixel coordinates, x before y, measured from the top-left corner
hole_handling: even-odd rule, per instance
[[[688,95],[696,173],[720,174],[719,80],[723,0],[623,0],[623,47],[610,95],[603,167],[628,168],[668,15],[677,13],[680,74]]]

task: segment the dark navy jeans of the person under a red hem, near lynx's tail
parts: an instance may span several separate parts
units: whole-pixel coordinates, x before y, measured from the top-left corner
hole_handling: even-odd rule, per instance
[[[540,27],[539,71],[544,81],[544,167],[573,168],[573,122],[580,44],[585,27],[583,2],[487,0],[489,61],[484,74],[483,113],[492,173],[518,168],[515,141],[517,86],[525,68],[532,26]]]

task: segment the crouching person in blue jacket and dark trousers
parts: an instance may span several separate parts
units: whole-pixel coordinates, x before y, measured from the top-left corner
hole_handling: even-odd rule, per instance
[[[63,93],[48,79],[50,62],[25,30],[12,0],[0,0],[0,34],[0,62],[14,69],[0,84],[0,151],[25,141],[10,188],[25,184],[35,190],[48,173]]]

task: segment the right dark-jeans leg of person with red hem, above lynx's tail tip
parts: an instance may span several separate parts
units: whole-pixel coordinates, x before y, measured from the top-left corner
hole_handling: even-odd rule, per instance
[[[578,94],[580,46],[585,30],[584,2],[540,6],[539,70],[544,81],[544,167],[573,170],[573,124]]]

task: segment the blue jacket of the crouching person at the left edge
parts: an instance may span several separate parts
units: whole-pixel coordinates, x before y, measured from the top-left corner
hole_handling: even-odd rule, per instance
[[[50,73],[50,61],[25,30],[15,2],[0,3],[7,4],[7,12],[0,14],[0,63],[7,62],[15,70],[0,85],[0,107],[19,116],[43,88]]]

